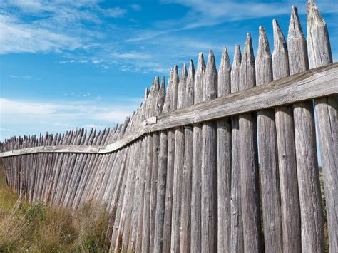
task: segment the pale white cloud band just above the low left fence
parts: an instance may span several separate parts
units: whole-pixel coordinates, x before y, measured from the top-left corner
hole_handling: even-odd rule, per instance
[[[0,98],[0,140],[11,135],[39,134],[46,130],[60,133],[76,127],[112,127],[123,123],[142,99],[114,100],[115,103],[97,105],[95,100],[46,103]]]

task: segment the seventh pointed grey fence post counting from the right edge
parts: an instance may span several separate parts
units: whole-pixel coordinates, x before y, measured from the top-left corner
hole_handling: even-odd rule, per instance
[[[223,48],[218,71],[217,96],[230,93],[230,59]],[[217,252],[230,252],[231,123],[217,120]]]

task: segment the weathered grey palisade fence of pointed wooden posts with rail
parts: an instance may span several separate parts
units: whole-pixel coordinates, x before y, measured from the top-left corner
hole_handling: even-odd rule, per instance
[[[6,180],[29,201],[105,203],[111,251],[324,252],[316,124],[329,252],[338,252],[338,64],[327,26],[307,3],[307,39],[292,6],[274,50],[259,29],[216,69],[190,60],[155,78],[123,125],[99,133],[1,143]],[[309,70],[311,68],[312,70]]]

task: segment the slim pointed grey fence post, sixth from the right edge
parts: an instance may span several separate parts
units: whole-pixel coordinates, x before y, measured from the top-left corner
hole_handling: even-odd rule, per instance
[[[231,68],[231,93],[239,91],[240,61],[242,55],[240,46],[235,47]],[[242,207],[240,205],[240,147],[239,147],[238,116],[231,117],[231,198],[230,198],[230,252],[244,252]]]

